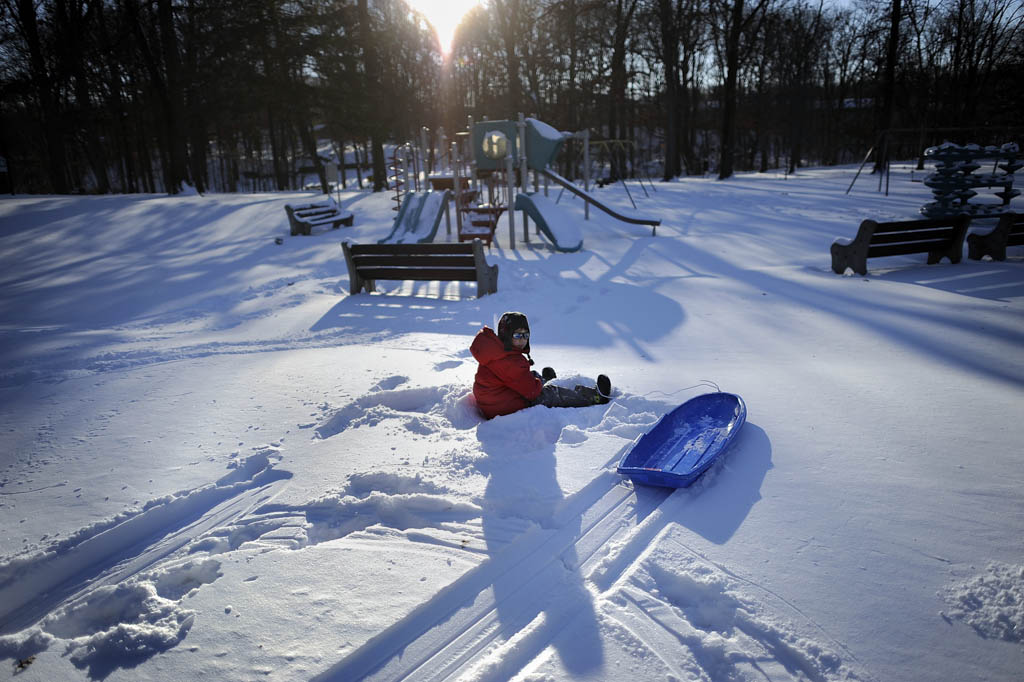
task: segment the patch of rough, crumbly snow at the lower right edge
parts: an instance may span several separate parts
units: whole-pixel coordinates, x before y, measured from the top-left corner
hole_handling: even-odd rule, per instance
[[[1024,565],[992,562],[985,572],[946,586],[946,614],[985,639],[1024,640]]]

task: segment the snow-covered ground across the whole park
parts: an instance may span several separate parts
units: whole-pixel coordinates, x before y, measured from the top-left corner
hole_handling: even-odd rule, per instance
[[[4,675],[1024,678],[1024,248],[836,275],[931,198],[855,170],[659,183],[656,237],[592,211],[572,254],[504,223],[482,299],[348,295],[386,194],[311,237],[309,194],[0,200]],[[510,309],[614,399],[482,422],[468,347]],[[620,479],[706,382],[735,446]]]

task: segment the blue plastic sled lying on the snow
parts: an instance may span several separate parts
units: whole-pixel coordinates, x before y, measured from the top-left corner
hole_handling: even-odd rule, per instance
[[[637,438],[617,471],[638,483],[686,487],[729,449],[744,421],[746,406],[738,395],[698,395]]]

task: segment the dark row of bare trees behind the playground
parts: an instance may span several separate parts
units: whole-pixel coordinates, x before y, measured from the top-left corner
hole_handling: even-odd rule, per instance
[[[386,142],[518,113],[667,179],[1024,142],[1024,3],[484,0],[445,58],[401,0],[0,0],[16,193],[326,187],[327,142],[380,188]]]

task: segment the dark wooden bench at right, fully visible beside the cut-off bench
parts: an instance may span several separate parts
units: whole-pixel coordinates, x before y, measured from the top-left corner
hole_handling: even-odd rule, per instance
[[[934,220],[876,222],[864,220],[852,242],[837,240],[831,246],[833,271],[867,274],[867,259],[927,253],[928,263],[948,258],[958,263],[964,256],[964,238],[971,217],[967,215]]]

